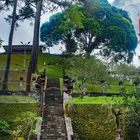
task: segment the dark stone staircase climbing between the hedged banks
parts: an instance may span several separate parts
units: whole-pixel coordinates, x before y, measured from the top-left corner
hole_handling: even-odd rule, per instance
[[[67,140],[59,79],[48,79],[40,140]]]

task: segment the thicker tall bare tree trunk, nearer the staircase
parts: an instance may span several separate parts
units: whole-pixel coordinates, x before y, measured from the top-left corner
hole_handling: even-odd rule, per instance
[[[32,72],[37,71],[37,62],[38,62],[38,52],[39,52],[39,29],[40,29],[40,16],[42,10],[43,0],[39,0],[37,2],[37,11],[35,17],[35,25],[34,25],[34,37],[33,37],[33,49],[30,58],[30,63],[27,72],[27,83],[26,83],[26,91],[30,91],[30,82]]]

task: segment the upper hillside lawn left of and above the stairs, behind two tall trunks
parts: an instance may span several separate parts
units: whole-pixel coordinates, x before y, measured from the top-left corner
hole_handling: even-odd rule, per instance
[[[19,80],[23,76],[26,80],[26,72],[23,71],[23,54],[12,54],[10,66],[9,80]],[[30,54],[26,55],[26,71],[29,65]],[[44,65],[44,62],[46,65]],[[62,77],[62,57],[59,55],[40,54],[38,59],[38,71],[43,72],[44,68],[47,69],[47,75],[50,77]],[[3,79],[4,69],[6,65],[6,54],[0,54],[0,79]],[[16,77],[16,78],[14,78]]]

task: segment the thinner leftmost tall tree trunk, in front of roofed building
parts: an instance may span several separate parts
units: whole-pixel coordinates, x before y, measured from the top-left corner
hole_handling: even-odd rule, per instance
[[[15,23],[16,23],[17,1],[18,0],[14,0],[14,6],[13,6],[12,24],[11,24],[9,40],[8,40],[8,47],[9,48],[8,48],[8,54],[7,54],[7,63],[6,63],[4,79],[3,79],[3,90],[8,90],[7,84],[8,84],[8,77],[9,77],[10,64],[11,64],[13,35],[14,35],[14,29],[15,29]]]

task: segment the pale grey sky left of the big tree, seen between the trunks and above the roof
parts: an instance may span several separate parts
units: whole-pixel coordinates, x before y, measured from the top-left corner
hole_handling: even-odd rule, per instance
[[[8,13],[7,13],[8,14]],[[49,20],[49,17],[53,13],[46,13],[41,17],[41,25],[42,23]],[[8,43],[8,36],[10,31],[10,25],[5,21],[4,17],[6,17],[5,13],[0,13],[0,38],[3,40],[3,45],[7,45]],[[25,20],[24,22],[20,23],[20,27],[16,29],[14,32],[13,44],[21,44],[31,42],[33,40],[33,28],[34,26],[31,25],[31,21]],[[3,51],[1,49],[0,51]],[[58,53],[60,52],[58,46],[51,48],[51,52]]]

